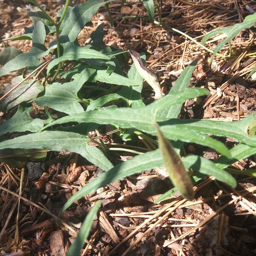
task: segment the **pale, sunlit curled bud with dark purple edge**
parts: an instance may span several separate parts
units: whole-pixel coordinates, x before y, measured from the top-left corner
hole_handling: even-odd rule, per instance
[[[153,88],[155,92],[155,99],[159,99],[163,96],[160,85],[157,81],[157,76],[150,72],[145,66],[143,65],[140,54],[138,52],[129,50],[131,54],[131,58],[134,61],[135,67],[137,68],[138,72],[140,73],[140,76],[142,76],[145,81]]]

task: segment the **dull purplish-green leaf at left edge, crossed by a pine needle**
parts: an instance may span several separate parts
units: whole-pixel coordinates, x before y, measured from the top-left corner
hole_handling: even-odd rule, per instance
[[[21,77],[16,76],[12,79],[12,84],[9,84],[5,87],[4,93],[7,93],[16,84],[18,84],[22,80]],[[13,90],[8,96],[0,102],[0,111],[7,111],[10,108],[15,107],[24,101],[29,101],[31,99],[35,99],[38,96],[38,93],[44,90],[43,85],[37,81],[24,81],[20,86],[18,86],[15,90]]]

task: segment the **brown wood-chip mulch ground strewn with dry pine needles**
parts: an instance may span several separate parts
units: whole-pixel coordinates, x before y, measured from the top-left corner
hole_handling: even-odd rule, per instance
[[[82,1],[70,2],[75,5]],[[248,6],[256,11],[255,1],[245,0],[158,2],[166,25],[198,42],[212,29],[242,22],[250,14]],[[38,0],[38,3],[51,17],[55,17],[55,13],[64,6],[63,0]],[[120,1],[116,1],[110,4],[110,9],[113,19],[125,15],[147,15],[139,0],[127,0],[122,7]],[[26,15],[32,10],[34,7],[25,1],[0,0],[0,39],[22,35],[24,27],[32,25]],[[105,8],[93,17],[93,26],[84,28],[80,33],[79,44],[85,45],[90,33],[102,22],[109,22]],[[208,41],[207,47],[213,50],[222,38],[215,36]],[[215,56],[210,69],[212,55],[209,52],[178,33],[140,18],[118,20],[105,35],[107,45],[145,52],[146,66],[157,74],[165,93],[184,67],[200,58],[191,86],[206,87],[211,96],[186,102],[180,118],[234,122],[256,109],[256,81],[246,79],[256,65],[256,57],[245,56],[256,51],[254,40],[255,27],[241,31],[231,42],[233,53],[239,57],[227,61]],[[0,43],[0,50],[5,46],[27,52],[31,41],[7,40]],[[229,54],[228,45],[221,54]],[[3,77],[1,85],[4,86],[11,78],[12,75]],[[114,141],[114,137],[108,135],[102,138],[106,143]],[[227,140],[226,144],[232,147],[234,141]],[[212,149],[192,144],[185,145],[184,153],[196,153],[212,160],[218,158]],[[122,157],[128,159],[132,156],[126,154]],[[70,170],[74,165],[76,175],[72,176]],[[238,170],[255,169],[255,166],[253,158],[233,164],[233,168]],[[18,194],[21,170],[12,169],[4,163],[0,170],[1,186]],[[46,178],[39,178],[42,172],[48,173]],[[76,158],[75,154],[64,151],[48,152],[44,163],[28,163],[22,194],[27,201],[20,201],[18,215],[17,196],[0,190],[0,253],[64,256],[86,213],[102,199],[102,207],[81,255],[256,255],[256,184],[253,177],[237,175],[236,189],[208,177],[196,184],[193,201],[185,201],[175,193],[169,200],[155,204],[154,201],[171,185],[163,177],[161,169],[147,170],[81,198],[64,212],[62,222],[56,223],[55,216],[67,199],[100,173],[101,169],[84,158]],[[15,235],[16,225],[18,235]]]

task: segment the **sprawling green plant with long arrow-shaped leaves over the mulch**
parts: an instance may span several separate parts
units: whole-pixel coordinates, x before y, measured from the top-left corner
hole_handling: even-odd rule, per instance
[[[80,154],[103,169],[105,172],[102,175],[87,183],[70,198],[62,209],[65,210],[83,195],[95,192],[98,188],[114,180],[146,169],[163,166],[166,163],[160,154],[160,149],[153,150],[152,148],[149,152],[139,154],[131,160],[113,166],[105,155],[109,150],[106,145],[98,141],[95,142],[99,147],[88,144],[91,141],[87,136],[89,131],[97,129],[101,125],[115,125],[120,129],[133,128],[131,132],[136,134],[139,131],[141,136],[150,140],[149,135],[157,135],[157,126],[155,125],[157,122],[158,135],[163,134],[165,140],[172,140],[172,147],[180,155],[183,166],[193,170],[192,179],[194,181],[200,180],[202,175],[210,175],[230,186],[236,186],[236,180],[225,169],[241,158],[256,154],[256,136],[248,135],[248,128],[255,120],[253,114],[239,122],[231,123],[178,119],[180,109],[187,99],[209,93],[208,90],[202,88],[188,88],[197,60],[186,67],[168,95],[163,97],[158,95],[156,97],[158,99],[145,105],[141,97],[143,78],[146,81],[153,81],[153,83],[157,81],[150,72],[141,72],[140,69],[145,71],[145,68],[141,62],[136,64],[136,58],[128,73],[125,73],[126,54],[130,52],[132,57],[134,54],[132,51],[122,51],[106,46],[103,41],[104,24],[99,25],[91,34],[92,41],[86,46],[81,47],[77,41],[79,32],[85,24],[91,22],[92,16],[98,9],[104,5],[109,8],[108,4],[113,1],[88,0],[86,3],[71,8],[68,7],[69,1],[67,0],[64,9],[58,12],[58,21],[55,22],[35,0],[30,0],[41,11],[30,12],[29,17],[34,25],[26,28],[23,36],[12,40],[29,38],[32,40],[32,48],[28,53],[22,53],[18,49],[5,48],[0,54],[3,65],[0,69],[0,76],[16,70],[23,72],[27,68],[29,72],[37,70],[37,76],[41,75],[44,79],[42,82],[36,78],[24,81],[23,73],[20,73],[13,79],[12,85],[6,87],[7,90],[10,90],[15,84],[20,84],[0,103],[0,111],[6,112],[17,108],[14,116],[0,127],[2,161],[9,163],[7,155],[11,154],[27,154],[27,157],[16,157],[15,160],[28,160],[35,149],[67,150]],[[124,2],[122,1],[122,3]],[[154,1],[143,1],[143,3],[148,10],[151,22],[154,22]],[[160,22],[161,20],[157,24],[162,26],[163,24]],[[237,30],[241,30],[248,26],[238,27]],[[46,35],[54,33],[56,40],[52,41],[47,48],[45,46]],[[207,38],[204,38],[205,41]],[[231,39],[228,37],[228,40]],[[223,44],[218,49],[221,49],[222,46]],[[40,61],[41,58],[48,55],[56,55],[56,57],[47,62]],[[141,58],[145,59],[145,55],[141,54]],[[38,69],[38,67],[40,68]],[[44,73],[46,67],[47,72]],[[158,86],[152,87],[157,91]],[[119,101],[126,107],[120,107]],[[46,109],[46,119],[32,119],[29,114],[32,102],[61,112],[61,118],[55,120],[55,117]],[[74,123],[75,125],[73,125]],[[9,132],[26,132],[26,134],[8,140],[3,135]],[[232,137],[237,140],[238,145],[228,149],[224,143],[208,134]],[[157,144],[155,140],[153,142]],[[180,148],[183,143],[197,143],[214,148],[222,156],[215,162],[197,155],[182,157]],[[125,150],[125,148],[122,149]],[[41,159],[45,156],[46,153],[43,153],[34,155],[34,158]],[[18,162],[13,163],[20,166]],[[179,172],[179,170],[175,171]],[[230,169],[228,171],[232,172]],[[178,179],[174,183],[183,183],[183,180]],[[183,195],[185,194],[183,193]],[[161,200],[163,199],[164,197],[161,198]]]

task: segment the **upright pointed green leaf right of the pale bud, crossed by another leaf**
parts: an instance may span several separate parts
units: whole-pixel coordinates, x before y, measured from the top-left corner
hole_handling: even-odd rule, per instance
[[[182,93],[188,86],[192,76],[193,71],[195,70],[195,66],[198,63],[198,59],[192,61],[188,67],[183,70],[180,74],[179,78],[175,82],[174,86],[170,90],[169,94],[180,92]],[[177,118],[182,104],[173,105],[169,108],[165,108],[162,111],[157,113],[157,122],[160,122],[162,119],[169,119],[169,118]]]

